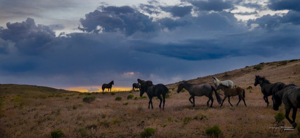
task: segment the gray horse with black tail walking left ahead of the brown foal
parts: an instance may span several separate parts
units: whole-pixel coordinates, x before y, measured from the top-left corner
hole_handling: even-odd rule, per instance
[[[191,96],[189,98],[189,101],[193,104],[193,107],[195,107],[195,96],[203,96],[203,95],[209,98],[209,100],[206,102],[207,106],[209,105],[209,101],[211,100],[210,107],[212,107],[212,103],[214,102],[214,98],[212,98],[213,92],[216,95],[218,103],[221,104],[222,102],[222,99],[220,97],[221,94],[217,93],[216,89],[210,84],[197,85],[197,84],[189,84],[189,83],[180,83],[177,88],[177,93],[179,93],[183,88],[190,93]],[[193,102],[190,100],[192,98],[193,98]]]

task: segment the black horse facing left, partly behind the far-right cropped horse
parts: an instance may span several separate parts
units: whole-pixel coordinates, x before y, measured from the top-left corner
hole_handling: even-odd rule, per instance
[[[255,75],[254,86],[256,87],[257,84],[259,84],[260,87],[261,87],[261,91],[262,91],[262,94],[263,94],[263,99],[267,103],[267,107],[269,106],[268,96],[271,96],[275,89],[280,90],[280,89],[282,89],[282,87],[285,86],[285,84],[282,83],[282,82],[276,82],[276,83],[272,84],[268,80],[266,80],[264,77],[260,77],[259,75],[257,75],[257,76]]]

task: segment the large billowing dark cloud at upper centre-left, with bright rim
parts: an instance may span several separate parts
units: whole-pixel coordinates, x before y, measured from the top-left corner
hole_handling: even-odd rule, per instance
[[[156,24],[152,18],[129,7],[101,7],[102,11],[95,10],[85,14],[85,19],[80,19],[83,28],[82,31],[95,32],[117,32],[120,31],[127,36],[137,31],[152,32],[155,31]],[[97,29],[97,26],[102,28]]]

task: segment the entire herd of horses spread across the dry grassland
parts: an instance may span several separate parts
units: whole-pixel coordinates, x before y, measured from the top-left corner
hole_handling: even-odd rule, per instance
[[[230,80],[225,81],[219,81],[216,77],[213,78],[214,86],[210,84],[190,84],[188,82],[183,82],[178,85],[177,93],[179,93],[182,89],[186,89],[189,94],[191,95],[189,98],[189,101],[193,104],[193,107],[195,107],[195,96],[203,96],[205,95],[208,97],[207,106],[209,106],[209,101],[211,101],[210,107],[212,107],[212,104],[214,102],[214,98],[212,94],[214,93],[217,99],[217,102],[221,104],[220,107],[222,107],[225,99],[228,97],[228,102],[230,103],[230,97],[237,96],[239,98],[238,103],[243,100],[245,106],[245,90],[241,87],[234,87],[233,82]],[[151,107],[153,109],[152,105],[152,98],[157,97],[160,100],[159,107],[161,108],[161,103],[163,102],[163,110],[165,106],[165,97],[166,94],[169,92],[169,89],[164,84],[156,84],[154,85],[152,81],[143,81],[141,79],[137,79],[138,83],[134,83],[132,85],[132,89],[140,89],[140,96],[142,97],[143,94],[146,92],[149,97],[149,105],[148,108]],[[267,107],[269,106],[268,96],[272,95],[272,101],[273,101],[273,109],[278,110],[279,106],[284,104],[285,106],[285,117],[286,119],[292,124],[292,126],[295,128],[297,124],[295,123],[296,113],[297,109],[300,108],[300,87],[295,86],[294,84],[285,85],[282,82],[276,82],[276,83],[270,83],[267,79],[264,77],[260,77],[259,75],[255,75],[255,82],[254,86],[260,85],[261,92],[263,94],[263,99],[267,103]],[[102,90],[104,91],[105,88],[110,89],[112,88],[113,81],[111,81],[109,84],[103,84]],[[220,93],[217,92],[217,90],[223,90],[224,91],[224,98],[220,97]],[[161,98],[162,95],[162,98]],[[222,95],[223,96],[223,95]],[[193,99],[193,101],[191,101]],[[236,106],[238,106],[238,103]],[[289,118],[289,112],[293,109],[292,113],[292,120]]]

